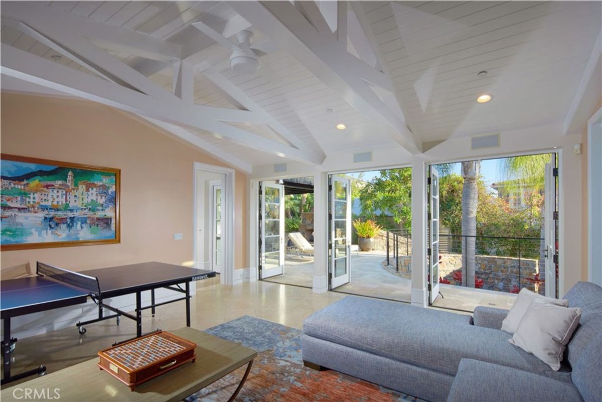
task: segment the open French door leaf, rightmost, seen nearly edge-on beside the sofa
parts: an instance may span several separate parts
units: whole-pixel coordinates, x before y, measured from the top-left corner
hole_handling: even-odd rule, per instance
[[[544,269],[545,269],[545,295],[556,297],[556,186],[554,185],[554,173],[551,163],[545,164],[544,178]]]

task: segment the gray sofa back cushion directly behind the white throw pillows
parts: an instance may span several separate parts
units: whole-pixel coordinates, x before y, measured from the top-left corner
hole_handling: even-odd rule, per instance
[[[565,352],[566,360],[574,366],[602,328],[602,288],[591,282],[577,282],[564,298],[569,307],[583,309],[579,326]]]

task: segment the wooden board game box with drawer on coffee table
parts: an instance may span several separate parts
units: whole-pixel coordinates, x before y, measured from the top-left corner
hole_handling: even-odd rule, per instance
[[[157,331],[99,351],[98,366],[134,391],[143,382],[194,362],[194,348],[193,342]]]

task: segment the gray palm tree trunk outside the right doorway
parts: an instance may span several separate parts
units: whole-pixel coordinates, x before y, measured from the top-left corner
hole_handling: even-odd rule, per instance
[[[474,275],[476,272],[476,238],[477,235],[477,205],[479,202],[479,189],[477,181],[480,174],[480,161],[462,162],[462,266],[465,274],[462,275],[462,286],[474,288]]]

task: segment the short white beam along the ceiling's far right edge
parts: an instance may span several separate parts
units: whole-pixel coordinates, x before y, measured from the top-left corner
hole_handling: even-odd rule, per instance
[[[602,31],[594,43],[588,64],[579,81],[579,87],[566,113],[563,124],[566,135],[579,134],[585,127],[600,99],[600,88],[602,88]]]

